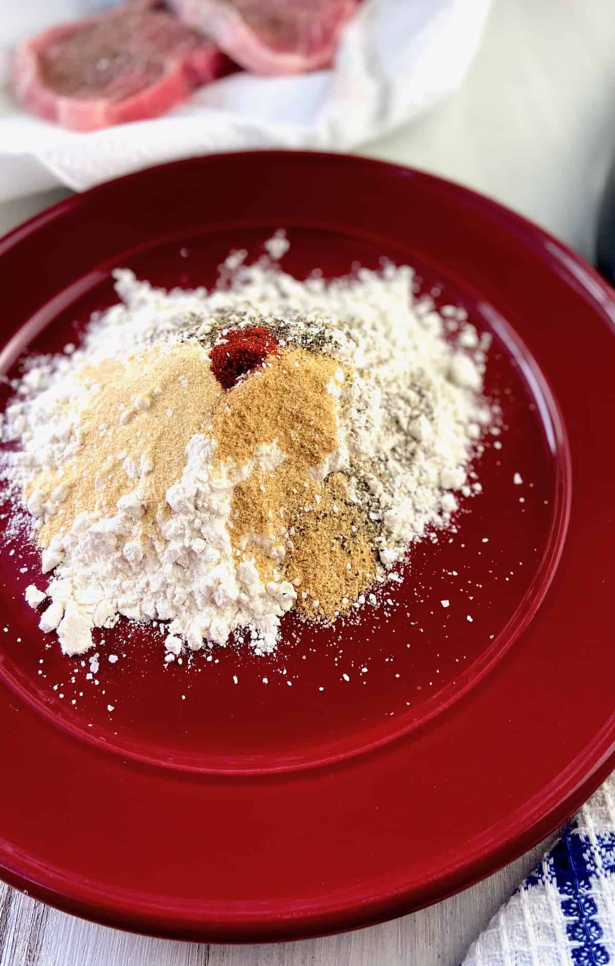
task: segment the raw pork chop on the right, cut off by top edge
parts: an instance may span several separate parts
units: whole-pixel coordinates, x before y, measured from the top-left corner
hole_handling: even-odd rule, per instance
[[[184,23],[254,73],[327,67],[358,0],[170,0]]]

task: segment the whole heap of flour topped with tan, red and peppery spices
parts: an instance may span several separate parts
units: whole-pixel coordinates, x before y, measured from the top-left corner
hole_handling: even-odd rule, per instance
[[[117,271],[82,346],[14,382],[4,475],[50,575],[25,596],[66,654],[120,615],[159,623],[167,661],[233,632],[271,653],[286,611],[377,606],[480,490],[489,335],[407,267],[299,282],[244,260],[210,292]]]

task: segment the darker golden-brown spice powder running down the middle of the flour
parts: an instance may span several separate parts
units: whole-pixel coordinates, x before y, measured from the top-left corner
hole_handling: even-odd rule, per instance
[[[273,442],[286,455],[236,487],[232,542],[265,582],[280,574],[293,581],[296,609],[324,622],[346,610],[377,572],[369,522],[349,500],[343,474],[321,481],[310,472],[339,445],[328,391],[338,370],[327,356],[301,349],[270,358],[228,393],[212,420],[222,459],[245,465],[259,445]]]

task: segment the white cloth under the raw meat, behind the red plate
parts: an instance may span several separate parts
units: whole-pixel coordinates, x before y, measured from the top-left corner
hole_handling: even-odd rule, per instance
[[[109,0],[20,0],[3,10],[0,199],[27,190],[23,177],[13,185],[2,177],[3,160],[12,161],[16,172],[18,157],[37,158],[59,184],[82,190],[162,161],[212,152],[347,151],[410,120],[460,84],[489,0],[365,0],[331,70],[291,77],[238,73],[200,88],[151,121],[74,133],[16,105],[8,84],[14,43],[106,6]]]

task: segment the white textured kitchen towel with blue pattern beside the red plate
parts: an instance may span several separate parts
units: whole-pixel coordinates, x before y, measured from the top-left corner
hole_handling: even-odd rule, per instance
[[[615,964],[615,775],[493,917],[463,966]]]

